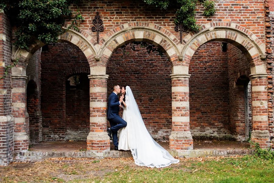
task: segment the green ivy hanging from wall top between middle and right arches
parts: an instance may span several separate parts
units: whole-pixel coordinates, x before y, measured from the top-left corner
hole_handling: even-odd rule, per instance
[[[143,0],[148,5],[155,5],[161,9],[167,9],[169,4],[179,7],[176,11],[175,24],[182,24],[190,30],[198,31],[200,26],[196,24],[195,9],[197,0]],[[204,5],[205,11],[203,15],[212,16],[216,12],[214,2],[209,0],[200,0]]]

